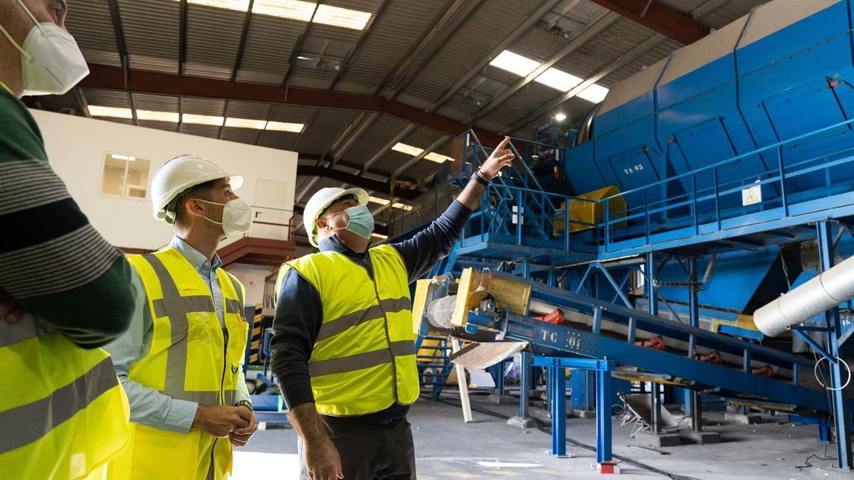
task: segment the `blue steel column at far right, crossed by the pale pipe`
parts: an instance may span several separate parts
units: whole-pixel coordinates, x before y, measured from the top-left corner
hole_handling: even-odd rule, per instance
[[[832,225],[828,220],[816,222],[818,231],[818,253],[822,272],[834,266],[834,237]],[[828,353],[836,361],[828,361],[830,368],[830,395],[834,404],[834,425],[836,427],[836,454],[840,469],[851,470],[851,430],[848,424],[848,412],[845,409],[845,391],[842,389],[842,361],[839,358],[839,307],[833,307],[824,313],[828,333],[826,336]]]

